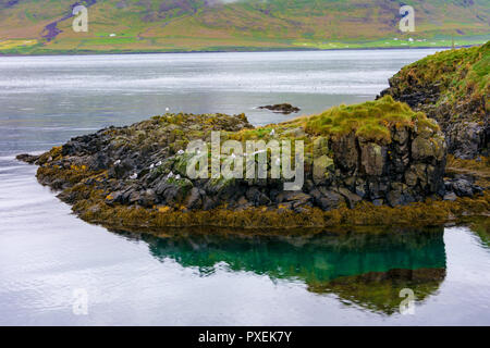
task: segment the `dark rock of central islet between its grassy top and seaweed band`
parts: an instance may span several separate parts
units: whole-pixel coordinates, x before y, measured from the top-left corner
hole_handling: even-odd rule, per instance
[[[383,102],[387,107],[390,100]],[[393,108],[409,111],[402,104]],[[100,209],[103,203],[114,209],[143,207],[161,212],[260,208],[265,212],[304,213],[311,208],[355,208],[360,201],[394,207],[434,196],[452,199],[448,196],[451,192],[461,197],[477,194],[478,188],[465,178],[444,183],[446,147],[437,124],[415,114],[408,121],[387,124],[389,137],[378,140],[354,130],[321,138],[308,133],[311,130],[306,126],[291,123],[274,126],[275,132],[268,128],[269,140],[297,137],[306,139],[305,149],[313,151],[305,153],[304,185],[296,191],[284,190],[284,183],[292,181],[283,177],[187,175],[193,159],[185,151],[187,145],[209,141],[212,130],[222,130],[228,139],[264,139],[262,129],[254,129],[244,115],[167,114],[132,126],[101,129],[40,157],[20,159],[36,161],[39,182],[65,189],[60,198],[83,212]],[[267,165],[271,164],[269,157]]]

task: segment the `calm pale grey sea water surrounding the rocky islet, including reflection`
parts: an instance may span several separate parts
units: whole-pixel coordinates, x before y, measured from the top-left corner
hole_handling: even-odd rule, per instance
[[[0,324],[490,324],[490,236],[109,232],[71,214],[14,154],[171,112],[256,125],[372,99],[431,50],[0,58]],[[415,294],[402,315],[400,290]],[[81,295],[82,294],[82,295]],[[75,315],[87,296],[88,314]]]

